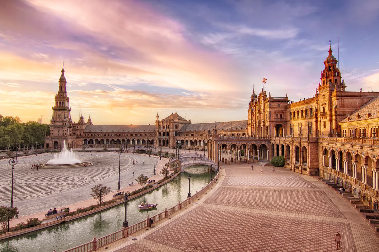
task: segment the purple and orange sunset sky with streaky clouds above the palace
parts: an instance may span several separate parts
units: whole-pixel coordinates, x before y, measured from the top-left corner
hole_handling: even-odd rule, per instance
[[[0,0],[0,114],[50,123],[64,61],[72,120],[246,120],[255,90],[315,95],[329,39],[346,91],[379,91],[379,2]]]

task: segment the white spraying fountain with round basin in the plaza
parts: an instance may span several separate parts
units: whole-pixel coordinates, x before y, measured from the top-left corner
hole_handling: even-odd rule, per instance
[[[89,162],[83,162],[76,158],[75,152],[72,149],[68,150],[66,147],[66,141],[63,141],[62,151],[55,153],[53,159],[47,161],[42,167],[46,168],[59,168],[59,167],[72,167],[72,166],[84,166],[91,165]]]

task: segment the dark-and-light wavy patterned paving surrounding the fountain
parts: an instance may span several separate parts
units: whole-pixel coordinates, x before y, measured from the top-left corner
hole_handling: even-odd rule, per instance
[[[94,165],[80,168],[31,170],[31,164],[47,162],[51,156],[32,156],[19,159],[14,169],[14,201],[60,193],[118,175],[119,158],[109,153],[86,153],[81,160]],[[100,165],[101,164],[101,165]],[[133,166],[132,156],[121,156],[121,172]],[[12,169],[7,162],[0,164],[0,203],[10,201]]]

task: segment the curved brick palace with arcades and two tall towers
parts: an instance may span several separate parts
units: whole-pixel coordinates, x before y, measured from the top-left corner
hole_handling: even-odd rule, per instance
[[[345,91],[337,59],[329,54],[312,98],[290,101],[255,90],[247,120],[191,123],[172,113],[149,125],[93,125],[83,115],[70,117],[64,69],[58,81],[50,135],[45,147],[181,148],[208,150],[208,158],[226,165],[284,156],[285,167],[309,176],[343,182],[368,203],[379,191],[379,92]]]

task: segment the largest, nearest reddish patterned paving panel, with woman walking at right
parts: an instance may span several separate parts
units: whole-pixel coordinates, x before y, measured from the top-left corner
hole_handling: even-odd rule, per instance
[[[199,206],[145,239],[188,252],[326,252],[335,250],[333,238],[337,231],[343,237],[341,251],[356,251],[349,224]]]

